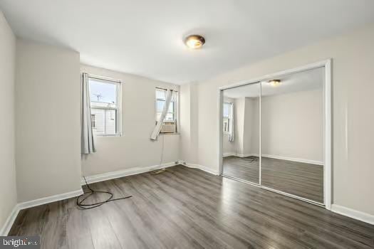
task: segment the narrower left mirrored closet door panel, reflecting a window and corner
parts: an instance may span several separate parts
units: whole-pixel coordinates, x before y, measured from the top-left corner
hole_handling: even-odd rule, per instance
[[[259,184],[260,83],[223,92],[223,174]]]

